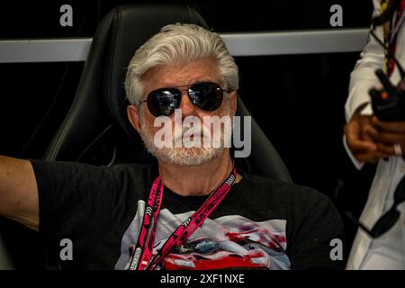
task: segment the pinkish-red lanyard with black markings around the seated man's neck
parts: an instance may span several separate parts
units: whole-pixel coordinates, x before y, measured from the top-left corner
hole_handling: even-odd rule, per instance
[[[153,243],[156,236],[157,215],[163,197],[164,185],[157,176],[150,189],[148,203],[145,208],[145,214],[142,226],[139,231],[137,246],[130,247],[130,270],[154,270],[173,247],[177,247],[183,241],[190,237],[198,229],[204,220],[208,218],[212,211],[220,204],[222,199],[229,193],[230,188],[235,182],[237,175],[236,168],[220,186],[211,193],[210,197],[202,203],[201,207],[193,213],[187,220],[175,229],[167,238],[163,247],[157,252],[157,256],[151,259],[153,253]]]

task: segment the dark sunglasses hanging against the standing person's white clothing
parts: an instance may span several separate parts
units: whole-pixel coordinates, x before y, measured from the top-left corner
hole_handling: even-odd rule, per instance
[[[362,223],[355,220],[351,213],[348,213],[347,216],[351,220],[354,220],[356,224],[361,228],[364,229],[365,232],[370,235],[372,238],[378,238],[382,236],[385,232],[394,226],[394,224],[400,218],[400,211],[397,210],[397,206],[405,201],[405,176],[401,179],[400,184],[397,185],[395,192],[394,192],[394,202],[392,203],[392,207],[386,211],[383,216],[377,220],[372,229],[367,229]]]

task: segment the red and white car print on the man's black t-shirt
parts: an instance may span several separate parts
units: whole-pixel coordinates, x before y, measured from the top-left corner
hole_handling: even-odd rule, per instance
[[[121,240],[121,257],[115,269],[130,266],[130,246],[136,245],[142,224],[145,202],[138,202],[138,210]],[[173,214],[162,209],[157,220],[153,255],[163,247],[173,231],[193,211]],[[181,246],[175,247],[157,269],[290,269],[284,253],[286,220],[255,222],[239,215],[207,219]]]

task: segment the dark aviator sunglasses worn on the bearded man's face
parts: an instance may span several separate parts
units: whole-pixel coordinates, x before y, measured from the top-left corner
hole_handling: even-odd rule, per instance
[[[169,116],[180,107],[182,90],[177,87],[159,88],[148,94],[148,110],[156,117]],[[204,111],[214,111],[220,108],[223,100],[223,92],[229,92],[213,82],[200,82],[188,86],[187,94],[194,106]]]

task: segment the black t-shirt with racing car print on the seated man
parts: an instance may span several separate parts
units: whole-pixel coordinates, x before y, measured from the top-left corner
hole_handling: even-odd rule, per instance
[[[155,166],[89,166],[31,161],[40,199],[40,234],[73,260],[62,268],[126,269],[136,245]],[[330,240],[343,230],[328,197],[311,188],[242,173],[210,217],[159,269],[339,268]],[[154,253],[206,196],[164,190]],[[62,242],[61,242],[62,241]]]

